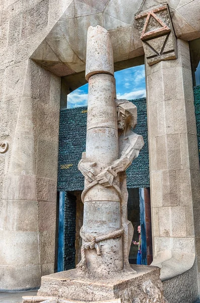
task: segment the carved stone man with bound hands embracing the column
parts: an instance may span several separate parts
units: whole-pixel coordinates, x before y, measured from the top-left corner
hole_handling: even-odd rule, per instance
[[[137,124],[137,107],[128,100],[115,99],[117,111],[117,127],[119,139],[119,159],[103,169],[98,174],[95,170],[96,163],[88,163],[83,153],[82,160],[78,168],[85,176],[86,183],[99,183],[105,187],[113,185],[114,178],[119,174],[119,188],[121,195],[121,226],[123,232],[123,270],[125,272],[135,272],[129,265],[128,255],[134,227],[127,220],[127,200],[128,191],[126,187],[126,169],[132,161],[139,156],[140,150],[144,145],[141,135],[136,134],[132,129]],[[82,262],[82,261],[81,261]]]

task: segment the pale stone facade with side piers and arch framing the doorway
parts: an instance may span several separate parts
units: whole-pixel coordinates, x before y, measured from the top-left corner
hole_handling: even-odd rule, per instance
[[[197,281],[200,182],[187,41],[200,37],[199,1],[5,0],[0,3],[1,150],[8,142],[0,154],[2,289],[38,287],[41,276],[54,271],[60,76],[85,70],[88,27],[110,32],[116,67],[137,62],[144,48],[135,16],[165,4],[177,59],[146,65],[154,264],[164,265],[164,279],[181,274],[181,280],[197,261]]]

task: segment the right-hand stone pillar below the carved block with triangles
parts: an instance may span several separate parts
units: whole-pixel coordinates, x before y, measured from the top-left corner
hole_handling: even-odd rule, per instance
[[[146,63],[154,261],[163,280],[194,263],[199,161],[188,42],[177,60]]]

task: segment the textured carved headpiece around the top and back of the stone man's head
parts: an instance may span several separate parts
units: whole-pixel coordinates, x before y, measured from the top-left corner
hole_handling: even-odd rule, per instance
[[[126,116],[130,116],[130,125],[132,128],[136,127],[137,124],[137,107],[130,101],[125,99],[115,99],[117,108],[122,109],[122,113]]]

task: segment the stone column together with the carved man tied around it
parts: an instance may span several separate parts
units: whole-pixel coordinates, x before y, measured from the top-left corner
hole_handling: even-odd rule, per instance
[[[137,124],[136,106],[127,100],[115,99],[109,33],[100,26],[89,27],[88,40],[86,153],[78,165],[85,176],[84,220],[80,231],[82,259],[78,268],[100,278],[122,269],[131,270],[128,255],[133,227],[127,220],[124,172],[138,157],[144,141],[131,131]]]

